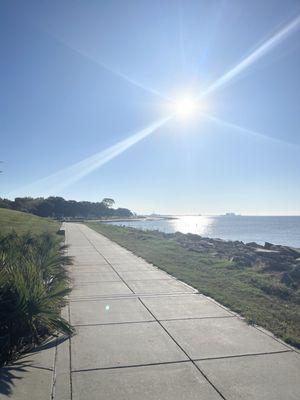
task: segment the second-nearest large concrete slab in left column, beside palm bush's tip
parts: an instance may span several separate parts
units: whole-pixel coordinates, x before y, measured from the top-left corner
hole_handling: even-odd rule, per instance
[[[157,322],[77,327],[72,370],[187,360]]]

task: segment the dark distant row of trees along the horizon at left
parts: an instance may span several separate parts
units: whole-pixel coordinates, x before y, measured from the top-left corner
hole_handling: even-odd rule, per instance
[[[104,198],[100,202],[65,200],[63,197],[50,196],[16,197],[15,200],[0,198],[0,208],[28,212],[40,217],[52,218],[103,218],[131,217],[133,213],[127,208],[113,208],[115,201]]]

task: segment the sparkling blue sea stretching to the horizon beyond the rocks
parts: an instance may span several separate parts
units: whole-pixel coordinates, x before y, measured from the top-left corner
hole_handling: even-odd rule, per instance
[[[176,216],[174,216],[176,217]],[[195,233],[210,238],[240,240],[245,243],[271,242],[300,248],[300,216],[178,216],[169,220],[139,220],[110,222],[165,233]]]

